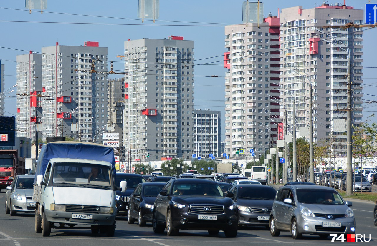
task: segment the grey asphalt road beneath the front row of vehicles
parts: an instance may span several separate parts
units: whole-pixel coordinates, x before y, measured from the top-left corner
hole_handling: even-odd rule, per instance
[[[52,229],[50,237],[42,237],[34,232],[34,214],[18,213],[11,217],[5,214],[5,191],[0,193],[0,245],[2,246],[45,246],[45,245],[377,245],[377,226],[373,224],[374,203],[353,199],[357,227],[356,234],[371,234],[371,241],[350,243],[331,242],[331,238],[320,239],[316,235],[305,235],[301,240],[293,240],[290,232],[281,232],[279,237],[271,237],[270,231],[264,227],[249,227],[238,230],[236,238],[225,238],[224,232],[210,236],[206,231],[180,231],[178,236],[168,237],[164,234],[154,234],[152,224],[144,227],[129,225],[126,217],[117,218],[114,237],[104,237],[103,234],[92,234],[87,229]]]

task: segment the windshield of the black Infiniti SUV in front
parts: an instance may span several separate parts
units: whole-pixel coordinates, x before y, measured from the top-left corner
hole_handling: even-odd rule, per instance
[[[221,187],[215,183],[175,183],[173,194],[176,196],[224,196]]]

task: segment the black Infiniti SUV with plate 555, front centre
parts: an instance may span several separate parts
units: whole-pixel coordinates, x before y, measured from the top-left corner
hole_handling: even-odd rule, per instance
[[[206,179],[172,179],[156,197],[153,231],[167,235],[183,230],[207,230],[210,235],[224,231],[225,237],[236,237],[238,215],[236,204],[218,183]]]

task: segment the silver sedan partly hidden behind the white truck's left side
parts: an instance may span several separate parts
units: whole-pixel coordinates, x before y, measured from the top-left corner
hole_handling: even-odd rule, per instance
[[[6,188],[5,213],[16,215],[17,212],[34,212],[33,183],[35,175],[18,175],[11,186]]]

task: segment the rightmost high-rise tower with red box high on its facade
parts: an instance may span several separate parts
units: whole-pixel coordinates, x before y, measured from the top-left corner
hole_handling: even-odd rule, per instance
[[[349,22],[363,23],[363,10],[323,3],[312,9],[302,6],[282,9],[280,14],[280,86],[285,88],[280,99],[287,107],[288,130],[293,126],[293,101],[296,101],[296,126],[309,124],[311,81],[314,142],[322,139],[331,142],[333,154],[346,153],[345,131],[337,130],[336,124],[334,128],[334,120],[347,118],[349,63],[352,123],[358,125],[363,118],[363,32],[361,28],[340,28]],[[308,134],[297,137],[309,138]]]

